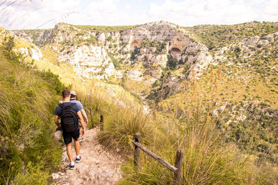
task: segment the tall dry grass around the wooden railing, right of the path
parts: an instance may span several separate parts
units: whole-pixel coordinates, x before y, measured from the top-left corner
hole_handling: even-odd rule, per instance
[[[212,99],[207,103],[191,99],[193,107],[185,117],[177,120],[167,114],[146,112],[125,96],[108,100],[108,92],[91,84],[79,98],[93,107],[95,124],[104,115],[104,131],[99,141],[112,150],[119,150],[129,157],[122,170],[120,184],[170,184],[173,173],[157,161],[141,152],[140,168],[133,168],[133,146],[136,132],[142,134],[141,143],[157,155],[174,164],[177,148],[183,149],[183,184],[272,184],[277,182],[276,165],[244,154],[230,142],[219,129],[218,120],[209,114]]]

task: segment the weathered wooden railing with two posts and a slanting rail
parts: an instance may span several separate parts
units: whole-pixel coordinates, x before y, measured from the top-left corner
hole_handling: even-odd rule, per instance
[[[135,146],[134,150],[134,168],[135,170],[138,170],[139,167],[139,159],[140,159],[140,149],[146,152],[148,155],[154,157],[158,162],[163,164],[166,168],[170,169],[172,172],[174,172],[174,185],[181,184],[181,170],[182,170],[182,162],[183,162],[183,150],[177,150],[176,153],[176,161],[174,166],[172,164],[168,163],[167,161],[161,159],[158,155],[156,155],[154,152],[151,152],[145,146],[142,146],[140,144],[141,140],[141,134],[140,132],[137,132],[135,134],[135,141],[131,141],[133,145]]]

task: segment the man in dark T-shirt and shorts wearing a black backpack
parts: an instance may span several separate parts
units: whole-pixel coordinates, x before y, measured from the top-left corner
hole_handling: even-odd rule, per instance
[[[55,109],[54,121],[58,127],[62,127],[63,139],[67,146],[67,156],[70,159],[70,169],[74,169],[74,160],[72,158],[72,138],[74,139],[74,148],[76,152],[76,162],[81,161],[81,156],[79,155],[80,143],[79,143],[79,124],[78,118],[83,128],[81,136],[85,134],[85,124],[83,121],[83,116],[81,114],[81,107],[70,102],[70,91],[63,91],[63,103],[58,105]],[[61,123],[58,119],[61,118]]]

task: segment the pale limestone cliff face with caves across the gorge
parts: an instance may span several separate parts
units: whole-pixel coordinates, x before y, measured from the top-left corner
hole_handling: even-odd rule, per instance
[[[165,78],[164,88],[175,89],[166,90],[165,97],[179,91],[181,80],[202,75],[212,61],[206,46],[165,21],[115,32],[57,24],[53,30],[36,30],[33,35],[20,31],[15,34],[53,49],[58,60],[72,64],[81,78],[115,77],[154,83],[161,80],[165,69],[177,71],[175,76]]]

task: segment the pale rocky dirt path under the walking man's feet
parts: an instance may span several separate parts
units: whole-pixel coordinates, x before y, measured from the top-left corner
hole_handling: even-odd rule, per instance
[[[74,144],[72,153],[75,159]],[[81,142],[80,155],[81,162],[75,163],[74,170],[70,170],[70,161],[63,146],[62,169],[52,174],[54,184],[117,184],[122,177],[122,157],[108,152],[97,142],[97,128],[86,130],[84,141]]]

